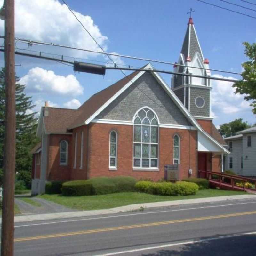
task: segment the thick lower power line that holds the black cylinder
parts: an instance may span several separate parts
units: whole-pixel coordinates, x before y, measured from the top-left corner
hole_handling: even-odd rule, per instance
[[[4,49],[0,49],[0,52],[4,52]],[[74,63],[67,60],[61,60],[56,58],[50,58],[50,57],[44,57],[40,55],[34,55],[24,52],[15,52],[17,55],[22,55],[26,57],[34,57],[39,59],[45,59],[45,60],[52,60],[57,62],[63,62],[70,64],[69,66],[73,65]],[[146,71],[146,72],[157,72],[157,73],[164,73],[164,74],[170,74],[170,75],[180,75],[180,76],[192,76],[197,78],[205,78],[205,79],[211,79],[211,80],[218,80],[218,81],[226,81],[226,82],[233,82],[235,83],[238,80],[235,79],[228,79],[228,78],[219,78],[219,77],[213,77],[213,76],[199,76],[199,75],[192,75],[192,74],[185,74],[185,73],[179,73],[179,72],[172,72],[172,71],[166,71],[166,70],[160,70],[160,69],[143,69],[143,68],[116,68],[116,67],[106,67],[106,69],[109,70],[128,70],[128,71]]]

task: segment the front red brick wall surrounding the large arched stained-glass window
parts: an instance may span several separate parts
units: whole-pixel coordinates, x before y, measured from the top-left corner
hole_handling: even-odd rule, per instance
[[[109,133],[115,130],[117,140],[117,171],[109,170]],[[190,150],[189,150],[189,132]],[[137,179],[164,178],[164,165],[173,163],[173,136],[180,136],[180,179],[188,177],[189,159],[193,177],[197,176],[197,131],[160,128],[159,130],[159,171],[133,171],[132,140],[133,126],[116,124],[96,124],[89,126],[88,179],[97,176],[127,175]],[[190,151],[190,157],[189,157]]]

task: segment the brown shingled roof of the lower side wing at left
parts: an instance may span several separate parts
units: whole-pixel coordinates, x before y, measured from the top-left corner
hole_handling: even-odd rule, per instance
[[[48,113],[45,114],[48,110]],[[68,108],[43,107],[46,133],[66,133],[67,128],[81,115],[82,110]]]

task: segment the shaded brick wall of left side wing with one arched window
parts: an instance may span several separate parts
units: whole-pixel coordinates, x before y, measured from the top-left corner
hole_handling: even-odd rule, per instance
[[[72,162],[72,135],[50,134],[48,148],[48,168],[46,180],[70,180],[70,168]],[[68,142],[68,164],[60,165],[60,142]]]

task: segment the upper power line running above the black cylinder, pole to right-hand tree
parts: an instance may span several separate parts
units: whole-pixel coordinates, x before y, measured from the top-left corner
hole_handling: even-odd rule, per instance
[[[0,38],[4,38],[4,36],[0,36]],[[117,56],[117,57],[122,57],[122,58],[127,58],[127,59],[133,59],[133,60],[143,60],[143,61],[156,62],[156,63],[167,64],[167,65],[176,65],[176,66],[187,67],[187,68],[197,68],[197,69],[210,70],[210,71],[216,71],[216,72],[221,72],[221,73],[242,75],[241,73],[238,73],[238,72],[232,72],[232,71],[226,71],[226,70],[220,70],[220,69],[192,67],[192,66],[186,66],[186,65],[179,64],[179,63],[173,63],[173,62],[168,62],[168,61],[133,57],[133,56],[110,53],[110,52],[98,52],[98,51],[82,49],[82,48],[77,48],[77,47],[72,47],[72,46],[67,46],[67,45],[62,45],[62,44],[47,43],[47,42],[29,40],[29,39],[18,38],[18,37],[15,37],[15,39],[19,40],[21,43],[24,43],[24,44],[30,43],[30,44],[36,44],[36,45],[49,45],[49,46],[62,47],[62,48],[67,48],[67,49],[72,49],[72,50],[79,50],[79,51],[85,51],[85,52],[93,52],[93,53],[99,53],[99,54],[105,54],[105,55],[112,55],[112,56]]]

